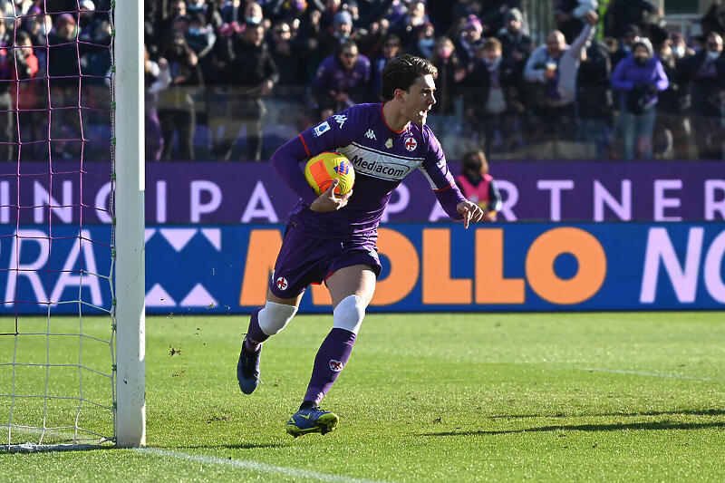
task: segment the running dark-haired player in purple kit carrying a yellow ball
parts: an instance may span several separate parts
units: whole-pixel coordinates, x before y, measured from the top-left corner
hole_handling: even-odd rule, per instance
[[[314,359],[302,405],[287,422],[294,437],[325,434],[337,426],[338,417],[318,403],[350,357],[372,299],[381,271],[377,227],[401,180],[420,169],[450,217],[462,219],[467,228],[484,217],[481,208],[461,196],[440,143],[426,126],[436,74],[420,57],[392,59],[382,71],[382,104],[358,104],[335,114],[287,141],[270,159],[300,201],[287,217],[266,304],[249,322],[237,379],[246,394],[256,390],[262,343],[289,324],[307,285],[324,282],[333,301],[333,329]],[[300,163],[331,150],[353,163],[354,194],[335,196],[335,180],[318,197],[304,179]]]

